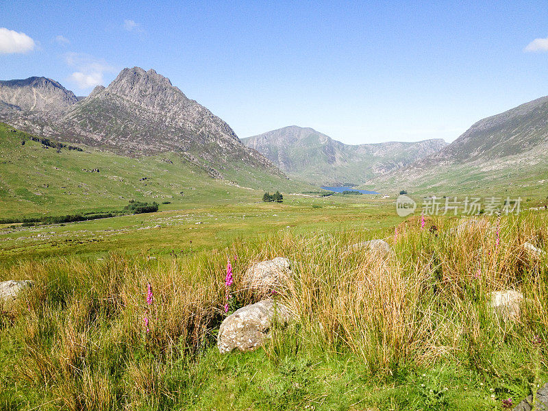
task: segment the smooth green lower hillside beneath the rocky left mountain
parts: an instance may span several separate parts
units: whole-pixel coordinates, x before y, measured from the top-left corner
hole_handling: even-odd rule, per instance
[[[119,210],[129,199],[169,201],[161,205],[169,210],[260,200],[266,190],[310,190],[238,162],[219,180],[174,153],[130,158],[85,146],[58,152],[29,137],[0,123],[1,218]]]

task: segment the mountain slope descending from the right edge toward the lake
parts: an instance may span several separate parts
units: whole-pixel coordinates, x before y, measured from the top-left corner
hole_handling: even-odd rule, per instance
[[[364,188],[548,195],[548,97],[477,121],[434,155]]]

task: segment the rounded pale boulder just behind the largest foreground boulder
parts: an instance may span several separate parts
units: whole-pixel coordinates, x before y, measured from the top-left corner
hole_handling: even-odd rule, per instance
[[[291,275],[291,264],[285,257],[256,262],[242,277],[242,286],[268,295],[272,290],[284,288]]]

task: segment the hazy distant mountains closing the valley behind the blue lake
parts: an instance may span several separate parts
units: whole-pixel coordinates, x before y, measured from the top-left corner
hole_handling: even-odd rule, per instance
[[[406,166],[445,146],[440,139],[345,145],[311,128],[297,126],[243,138],[288,175],[311,184],[359,184]]]

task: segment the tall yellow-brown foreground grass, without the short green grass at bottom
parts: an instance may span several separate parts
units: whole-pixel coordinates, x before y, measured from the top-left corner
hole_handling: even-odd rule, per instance
[[[366,233],[282,231],[184,258],[21,262],[1,278],[32,279],[34,287],[2,312],[0,335],[21,345],[14,378],[64,409],[166,406],[180,394],[166,382],[174,364],[214,343],[227,258],[238,308],[260,298],[240,285],[245,269],[285,256],[292,275],[277,298],[298,325],[286,341],[351,352],[371,373],[446,358],[496,373],[494,347],[525,350],[531,336],[548,338],[547,257],[523,249],[529,241],[547,251],[547,218],[504,217],[499,245],[496,217],[485,221],[459,233],[459,219],[428,219],[425,229],[411,219],[397,238],[392,229],[379,234],[393,248],[386,256],[350,247],[370,239]],[[488,308],[489,292],[508,289],[526,298],[517,323],[504,323]]]

